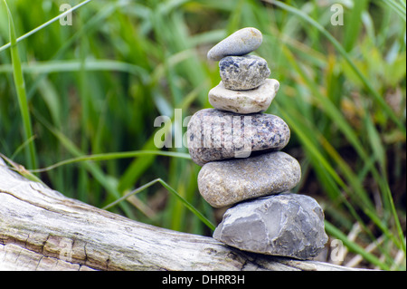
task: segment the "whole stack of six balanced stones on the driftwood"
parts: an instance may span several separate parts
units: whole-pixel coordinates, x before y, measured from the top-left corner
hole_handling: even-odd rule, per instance
[[[188,149],[203,166],[198,188],[213,207],[230,207],[213,237],[241,250],[298,259],[316,256],[327,243],[317,201],[292,194],[301,177],[297,159],[279,151],[289,126],[262,113],[279,90],[259,56],[255,28],[243,28],[213,46],[222,82],[209,92],[215,109],[197,111],[188,124]],[[232,206],[232,207],[231,207]]]

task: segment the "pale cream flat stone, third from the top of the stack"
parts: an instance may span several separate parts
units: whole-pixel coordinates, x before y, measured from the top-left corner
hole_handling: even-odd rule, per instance
[[[279,91],[279,82],[267,79],[258,88],[250,91],[231,91],[220,82],[208,93],[209,103],[218,110],[241,114],[266,111]]]

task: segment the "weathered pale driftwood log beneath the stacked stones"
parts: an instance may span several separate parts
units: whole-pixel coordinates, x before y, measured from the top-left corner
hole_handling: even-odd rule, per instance
[[[212,237],[142,224],[23,178],[0,158],[0,270],[352,268],[249,254]]]

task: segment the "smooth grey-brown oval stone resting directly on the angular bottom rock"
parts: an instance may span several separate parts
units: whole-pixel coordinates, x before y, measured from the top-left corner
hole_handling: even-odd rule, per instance
[[[247,159],[209,162],[199,171],[198,189],[212,207],[226,207],[288,191],[300,178],[297,159],[274,151]]]

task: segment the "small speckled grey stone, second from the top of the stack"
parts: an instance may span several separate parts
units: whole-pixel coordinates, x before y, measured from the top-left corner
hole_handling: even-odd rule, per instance
[[[219,70],[224,87],[232,91],[255,89],[270,76],[266,60],[255,55],[223,57]]]

